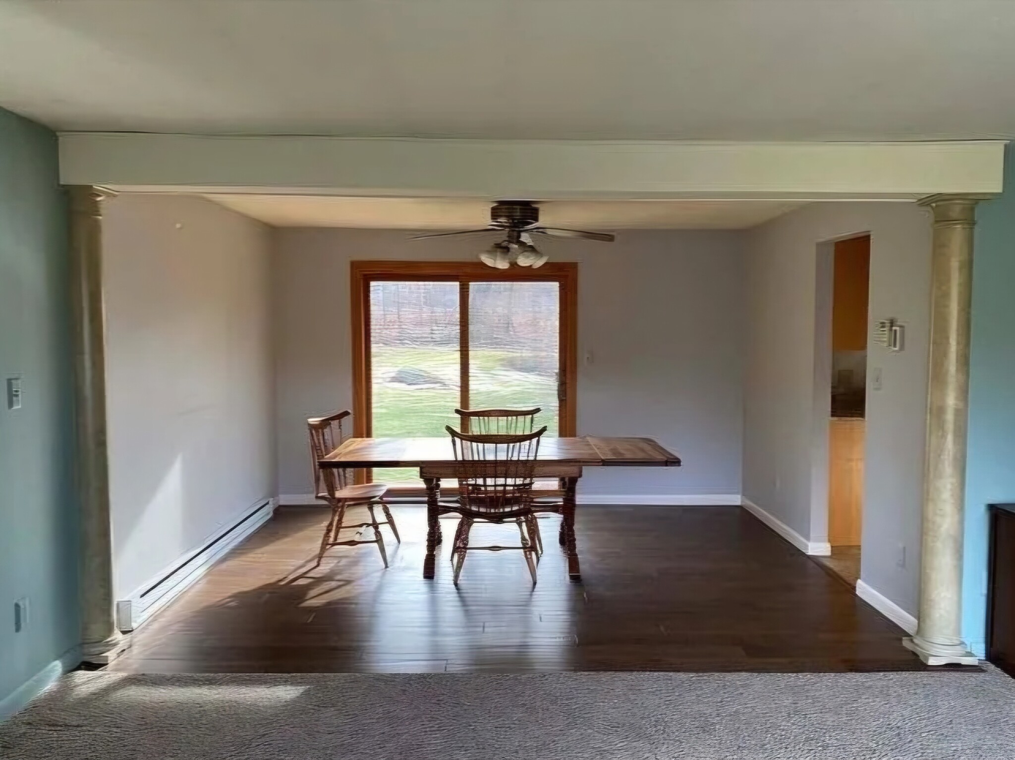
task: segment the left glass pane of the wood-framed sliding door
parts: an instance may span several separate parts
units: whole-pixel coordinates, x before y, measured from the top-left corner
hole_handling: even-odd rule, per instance
[[[370,283],[374,435],[445,436],[460,403],[457,282]],[[415,469],[374,480],[419,482]]]

